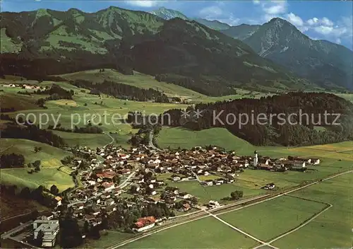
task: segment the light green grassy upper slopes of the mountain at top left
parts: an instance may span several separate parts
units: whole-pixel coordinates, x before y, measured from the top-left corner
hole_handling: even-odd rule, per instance
[[[150,13],[110,7],[96,13],[85,13],[76,8],[53,11],[40,8],[35,11],[3,13],[1,51],[18,52],[23,44],[18,37],[33,33],[38,52],[83,50],[93,54],[107,54],[104,42],[119,42],[124,35],[155,33],[163,20]],[[8,33],[10,37],[3,34]],[[4,42],[4,45],[2,44]]]

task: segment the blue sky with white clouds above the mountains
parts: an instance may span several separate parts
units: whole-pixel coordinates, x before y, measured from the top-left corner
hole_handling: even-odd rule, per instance
[[[329,40],[353,50],[353,1],[100,1],[100,0],[0,0],[1,11],[78,8],[95,12],[109,6],[153,11],[160,7],[181,11],[190,18],[218,20],[229,25],[263,24],[280,17],[314,40]]]

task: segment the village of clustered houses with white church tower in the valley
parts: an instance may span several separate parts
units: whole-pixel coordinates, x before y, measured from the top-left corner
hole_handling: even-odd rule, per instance
[[[213,146],[179,151],[157,151],[148,146],[122,149],[111,145],[95,150],[85,147],[71,150],[76,158],[70,167],[77,173],[76,179],[81,185],[68,193],[68,200],[55,197],[52,214],[33,222],[32,237],[37,239],[41,234],[42,247],[54,247],[59,217],[64,212],[69,212],[80,227],[85,227],[84,238],[88,227],[98,229],[103,223],[107,227],[107,220],[114,219],[114,213],[122,212],[122,209],[143,210],[133,220],[126,221],[128,231],[138,233],[163,224],[177,214],[222,205],[213,199],[199,202],[197,196],[181,191],[175,185],[169,186],[170,183],[197,181],[207,188],[237,182],[244,170],[304,172],[307,166],[320,163],[318,158],[261,157],[258,151],[254,151],[253,156],[237,156],[235,151],[226,152]],[[214,177],[201,180],[210,175]],[[273,190],[275,187],[275,183],[268,183],[261,188]]]

